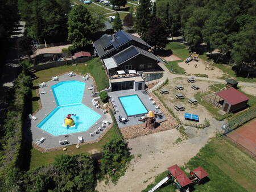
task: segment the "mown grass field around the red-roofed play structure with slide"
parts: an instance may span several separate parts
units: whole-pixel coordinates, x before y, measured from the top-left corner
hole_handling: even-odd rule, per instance
[[[210,180],[203,185],[195,185],[193,191],[256,190],[255,161],[225,140],[212,139],[182,169],[193,170],[197,166],[202,166],[209,173]],[[168,171],[165,171],[156,176],[155,182],[148,185],[143,192],[150,190],[167,174]],[[158,191],[175,191],[172,183],[168,184]]]

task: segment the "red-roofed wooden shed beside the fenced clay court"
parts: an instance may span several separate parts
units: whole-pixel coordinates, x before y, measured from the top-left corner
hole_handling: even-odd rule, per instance
[[[223,91],[219,91],[216,93],[216,95],[224,99],[224,103],[221,109],[228,113],[245,108],[248,100],[250,99],[245,94],[234,89],[233,87],[230,87],[229,89],[225,89]]]

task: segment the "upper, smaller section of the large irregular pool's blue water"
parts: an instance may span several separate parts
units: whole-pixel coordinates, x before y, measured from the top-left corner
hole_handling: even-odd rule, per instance
[[[85,83],[80,81],[64,81],[52,86],[57,105],[81,103]]]

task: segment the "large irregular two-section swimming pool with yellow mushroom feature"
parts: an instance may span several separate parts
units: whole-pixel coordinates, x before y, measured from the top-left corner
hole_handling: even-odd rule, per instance
[[[53,85],[51,88],[57,107],[37,127],[58,136],[86,131],[101,118],[97,112],[82,104],[84,82],[64,81]],[[76,114],[76,116],[72,115],[76,124],[69,128],[63,126],[64,119],[68,114]]]

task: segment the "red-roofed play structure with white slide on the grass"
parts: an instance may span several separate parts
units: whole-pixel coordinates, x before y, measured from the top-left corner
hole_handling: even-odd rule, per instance
[[[190,172],[191,177],[187,177],[183,170],[181,170],[177,164],[170,166],[168,170],[170,174],[168,174],[167,177],[163,178],[163,180],[157,183],[148,192],[155,191],[169,180],[174,182],[174,185],[177,187],[178,190],[189,192],[189,186],[200,184],[208,176],[208,173],[203,168],[201,168],[201,166]]]

